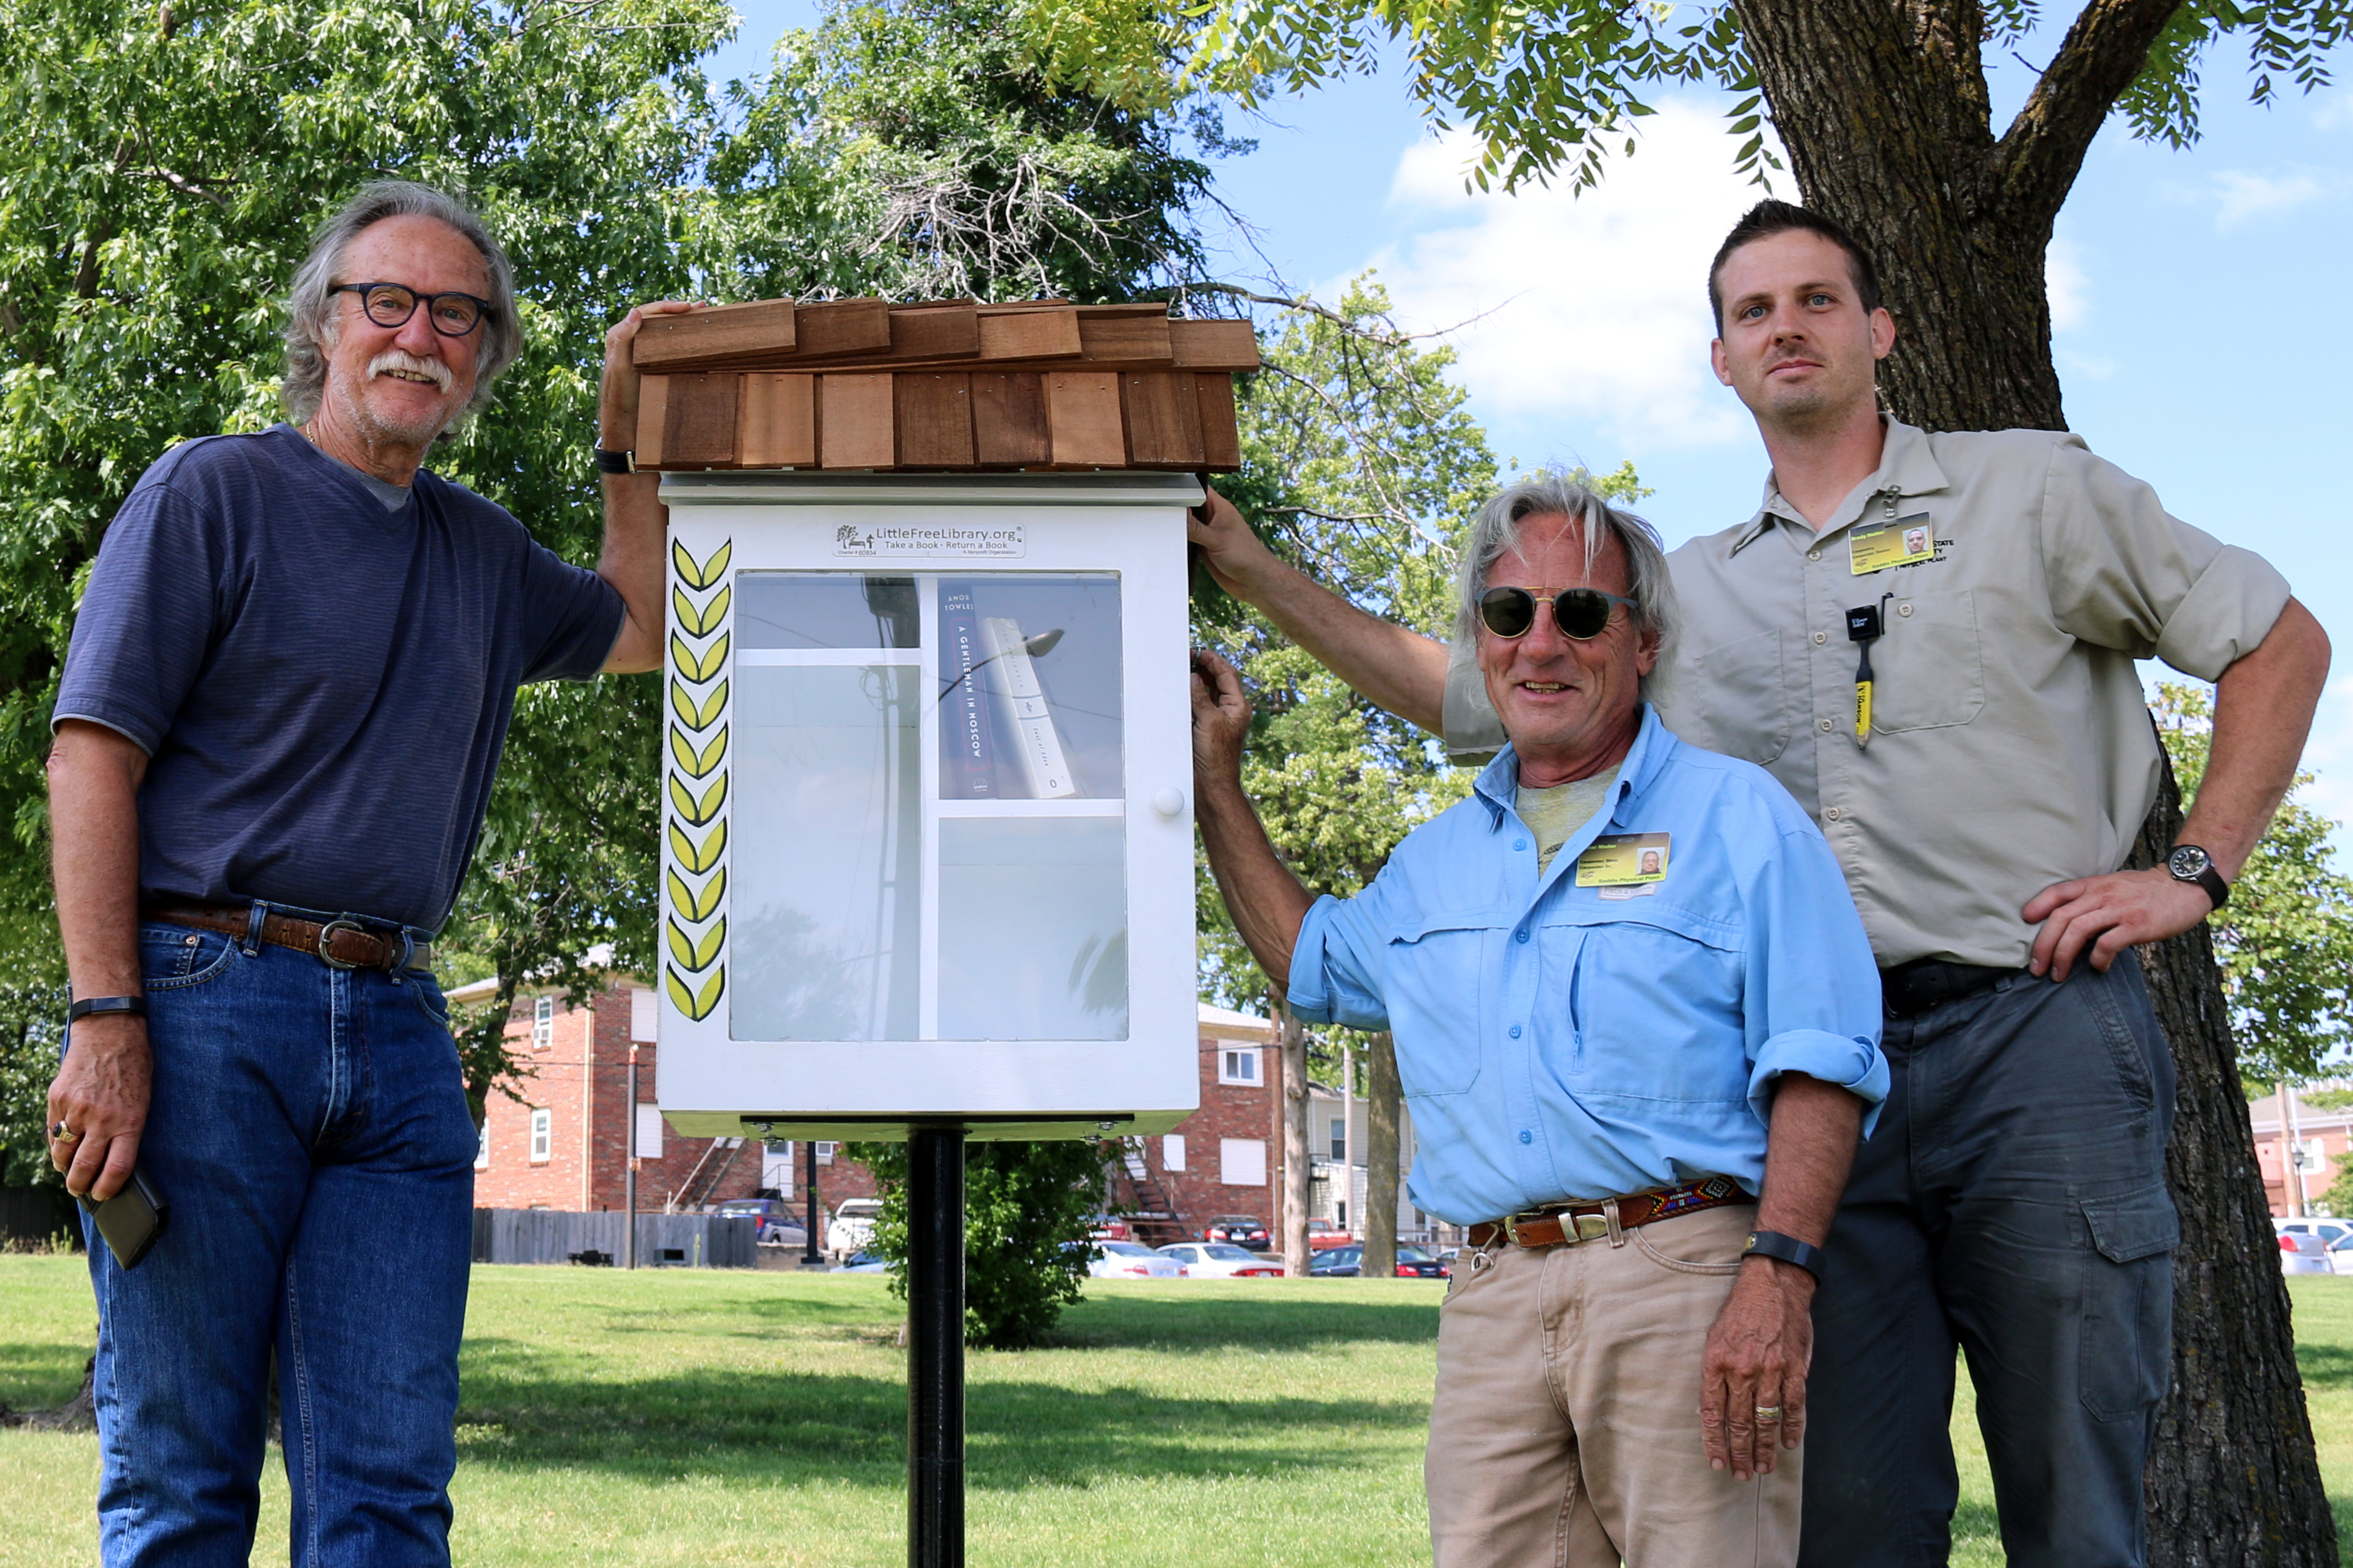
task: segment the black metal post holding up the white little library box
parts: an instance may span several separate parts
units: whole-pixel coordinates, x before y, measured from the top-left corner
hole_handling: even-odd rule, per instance
[[[913,1128],[906,1199],[906,1561],[965,1568],[965,1128]]]

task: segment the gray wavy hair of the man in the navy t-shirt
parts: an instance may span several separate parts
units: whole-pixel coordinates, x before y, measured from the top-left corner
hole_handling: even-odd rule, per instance
[[[482,268],[489,273],[489,313],[478,331],[482,348],[475,360],[473,397],[459,409],[459,418],[489,404],[489,383],[499,378],[515,355],[522,353],[522,322],[515,317],[515,270],[506,263],[506,252],[489,235],[489,228],[466,202],[433,186],[407,179],[376,179],[360,186],[358,195],[344,202],[341,212],[320,223],[311,240],[311,254],[294,270],[287,289],[287,371],[278,388],[287,418],[296,425],[311,423],[320,400],[327,395],[327,348],[334,341],[334,294],[336,270],[344,252],[360,233],[384,219],[438,219],[466,235],[473,249],[482,252]],[[456,423],[456,421],[452,421]]]

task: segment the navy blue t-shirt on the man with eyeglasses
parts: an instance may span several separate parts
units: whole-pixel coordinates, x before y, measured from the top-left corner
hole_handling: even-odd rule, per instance
[[[292,425],[174,447],[115,512],[56,719],[148,752],[139,889],[438,931],[515,686],[588,679],[621,595],[419,473],[386,510]]]

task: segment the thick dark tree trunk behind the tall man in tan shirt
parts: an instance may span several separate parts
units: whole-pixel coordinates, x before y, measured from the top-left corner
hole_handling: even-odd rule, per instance
[[[1873,254],[1897,350],[1887,409],[1929,430],[2064,430],[2045,249],[2092,136],[2177,0],[2087,0],[1995,139],[1969,0],[1734,0],[1805,202]],[[2172,771],[2141,863],[2181,823]],[[2148,1465],[2162,1568],[2337,1563],[2205,929],[2141,950],[2181,1081],[2174,1385]]]

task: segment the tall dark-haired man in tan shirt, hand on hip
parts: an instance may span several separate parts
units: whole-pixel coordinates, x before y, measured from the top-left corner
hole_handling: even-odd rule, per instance
[[[1958,1345],[2009,1561],[2137,1566],[2179,1227],[2172,1060],[2129,950],[2219,907],[2294,776],[2327,637],[2257,555],[2073,435],[1882,418],[1894,322],[1826,219],[1762,202],[1708,294],[1718,378],[1774,468],[1748,522],[1671,555],[1685,630],[1654,701],[1821,825],[1894,1072],[1814,1302],[1800,1561],[1946,1561]],[[1464,651],[1308,583],[1224,503],[1193,538],[1459,762],[1499,745]],[[2137,658],[2219,698],[2172,870],[2120,872],[2160,759]]]

